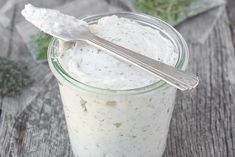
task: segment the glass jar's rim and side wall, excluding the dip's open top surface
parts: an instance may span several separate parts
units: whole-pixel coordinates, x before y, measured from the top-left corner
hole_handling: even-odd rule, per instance
[[[185,70],[188,48],[182,36],[162,20],[139,13],[118,12],[85,17],[92,25],[117,15],[159,30],[178,53],[176,68]],[[174,108],[176,88],[151,85],[109,90],[92,87],[69,75],[58,60],[58,40],[48,49],[50,69],[59,82],[67,128],[76,157],[161,157]]]

